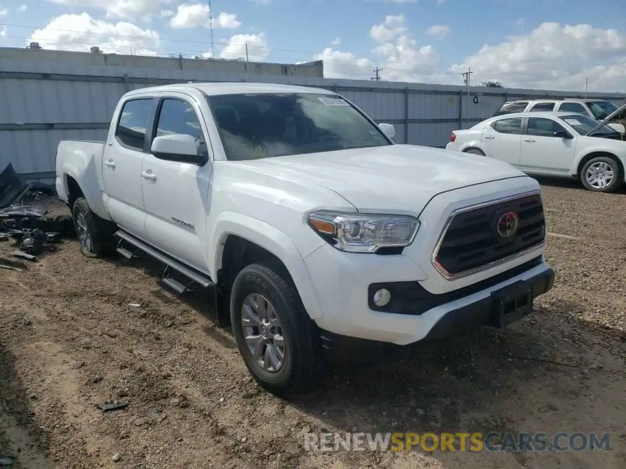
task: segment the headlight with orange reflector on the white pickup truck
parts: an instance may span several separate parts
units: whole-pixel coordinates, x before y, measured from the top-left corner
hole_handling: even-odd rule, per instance
[[[374,253],[379,248],[404,247],[413,242],[419,220],[406,215],[310,213],[309,225],[337,249]]]

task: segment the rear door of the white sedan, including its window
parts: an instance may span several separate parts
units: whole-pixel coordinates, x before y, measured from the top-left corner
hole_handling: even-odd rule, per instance
[[[490,158],[520,163],[521,124],[524,118],[501,118],[483,129],[480,147]]]

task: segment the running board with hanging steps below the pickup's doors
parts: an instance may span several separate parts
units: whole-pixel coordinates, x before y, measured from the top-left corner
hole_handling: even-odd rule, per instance
[[[195,290],[195,285],[200,285],[202,288],[208,288],[215,285],[215,283],[213,283],[213,281],[207,276],[191,270],[177,260],[173,260],[170,256],[167,256],[155,250],[155,248],[153,248],[152,246],[147,245],[143,241],[135,238],[135,236],[131,236],[121,229],[120,231],[117,231],[115,233],[115,236],[120,238],[120,245],[118,245],[117,251],[125,258],[133,258],[134,256],[136,256],[136,253],[138,251],[143,251],[147,255],[165,264],[167,267],[163,272],[162,281],[165,285],[169,286],[170,288],[172,288],[172,290],[177,291],[178,293]],[[127,243],[128,245],[131,245],[133,248],[135,248],[135,253],[123,247],[121,245],[122,241],[123,243]],[[127,254],[130,254],[130,257],[128,257]],[[187,277],[190,282],[187,282],[187,285],[185,285],[185,283],[181,283],[180,281],[175,280],[174,278],[172,278],[172,271],[176,271],[177,273]]]

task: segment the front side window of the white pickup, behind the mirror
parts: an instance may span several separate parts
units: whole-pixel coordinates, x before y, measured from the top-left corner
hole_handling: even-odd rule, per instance
[[[198,145],[198,154],[208,155],[200,119],[191,104],[182,99],[165,98],[156,122],[156,136],[183,134],[192,136]]]

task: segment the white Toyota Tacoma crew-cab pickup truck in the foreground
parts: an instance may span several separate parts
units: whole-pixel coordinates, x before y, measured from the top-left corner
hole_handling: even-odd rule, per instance
[[[153,256],[179,293],[213,288],[252,376],[287,396],[355,339],[503,327],[552,288],[535,179],[393,134],[323,89],[144,88],[105,142],[59,143],[56,188],[86,256]]]

